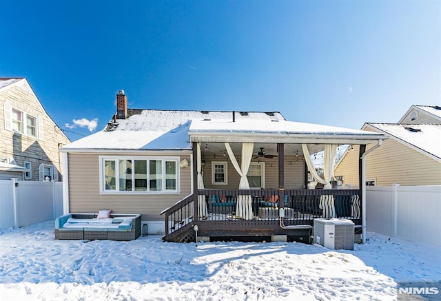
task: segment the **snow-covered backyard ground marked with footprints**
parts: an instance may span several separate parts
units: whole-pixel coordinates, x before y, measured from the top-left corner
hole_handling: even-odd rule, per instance
[[[354,251],[333,251],[160,236],[54,240],[53,232],[53,220],[0,231],[0,300],[396,300],[397,282],[441,280],[440,247],[377,233]]]

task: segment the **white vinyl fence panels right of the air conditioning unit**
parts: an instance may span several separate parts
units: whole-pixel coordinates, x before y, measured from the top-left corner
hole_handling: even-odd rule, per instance
[[[441,246],[441,186],[368,186],[367,229]]]

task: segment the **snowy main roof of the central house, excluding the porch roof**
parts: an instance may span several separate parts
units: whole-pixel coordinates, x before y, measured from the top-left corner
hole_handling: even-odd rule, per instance
[[[61,147],[61,152],[94,150],[190,150],[188,131],[194,120],[232,121],[233,111],[127,110],[101,131]],[[284,121],[280,112],[235,112],[237,121]]]

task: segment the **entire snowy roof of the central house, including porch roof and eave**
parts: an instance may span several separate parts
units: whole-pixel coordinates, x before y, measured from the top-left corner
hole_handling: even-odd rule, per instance
[[[286,121],[280,112],[127,110],[127,116],[110,121],[101,132],[65,145],[60,151],[189,151],[191,142],[201,139],[255,142],[258,137],[259,142],[342,144],[387,139],[374,132]]]

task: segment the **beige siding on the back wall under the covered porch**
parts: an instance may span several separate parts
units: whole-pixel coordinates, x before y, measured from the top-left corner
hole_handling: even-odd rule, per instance
[[[238,158],[239,159],[239,158]],[[298,159],[298,160],[297,160]],[[212,184],[212,161],[227,161],[227,185]],[[252,162],[265,163],[265,188],[278,189],[278,158],[259,158]],[[206,158],[203,167],[203,180],[205,188],[212,189],[238,189],[240,176],[231,160],[227,157],[222,158]],[[294,155],[285,156],[285,189],[298,189],[305,185],[305,160],[302,156],[297,158]]]

